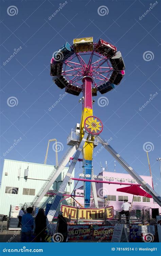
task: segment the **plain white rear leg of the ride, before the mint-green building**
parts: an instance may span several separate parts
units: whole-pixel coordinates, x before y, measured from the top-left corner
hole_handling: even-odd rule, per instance
[[[31,203],[32,205],[34,203],[39,203],[42,200],[44,195],[47,193],[49,188],[52,186],[54,181],[57,179],[59,174],[62,172],[64,167],[69,162],[70,157],[73,156],[74,153],[76,152],[78,145],[79,144],[77,142],[75,142],[75,144],[72,147],[68,148],[68,150],[66,151],[65,155],[60,160],[58,166],[55,167],[55,169],[52,171],[52,173],[48,177],[47,181],[43,184],[43,186],[41,187],[41,189],[37,193],[36,197],[33,199],[32,203]]]

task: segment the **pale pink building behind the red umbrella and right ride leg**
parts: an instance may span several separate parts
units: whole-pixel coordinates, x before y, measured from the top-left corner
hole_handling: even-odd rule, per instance
[[[103,176],[103,178],[101,177]],[[100,178],[99,178],[100,177]],[[143,178],[143,180],[145,182],[147,182],[151,187],[152,187],[152,178],[151,176],[141,176]],[[96,180],[101,180],[101,181],[112,181],[112,182],[118,182],[118,183],[122,183],[122,185],[120,184],[108,184],[108,183],[96,183],[96,191],[97,191],[97,196],[101,199],[103,199],[103,197],[105,195],[107,195],[107,199],[106,199],[106,205],[112,205],[114,210],[118,210],[121,211],[121,205],[124,202],[125,199],[128,200],[128,202],[132,202],[132,198],[133,195],[131,194],[127,194],[127,193],[123,193],[123,192],[118,192],[116,191],[117,188],[120,187],[127,187],[127,185],[124,185],[124,183],[129,183],[130,184],[138,184],[132,177],[130,174],[126,174],[126,173],[116,173],[116,172],[101,172],[99,173],[99,175],[97,175]],[[155,187],[158,186],[158,184],[156,183],[154,185],[154,189]],[[75,199],[81,203],[82,205],[84,205],[84,198],[82,197],[84,195],[84,191],[83,189],[76,189],[75,190],[75,195],[80,196],[80,197],[76,197]],[[102,200],[103,201],[103,200]],[[91,207],[93,207],[93,198],[91,198]],[[161,214],[161,207],[154,202],[153,198],[146,198],[146,197],[142,197],[142,196],[134,196],[133,198],[133,206],[135,206],[135,208],[138,209],[140,207],[149,207],[150,210],[150,217],[152,218],[156,218],[156,215]],[[104,203],[99,201],[99,207],[103,207]]]

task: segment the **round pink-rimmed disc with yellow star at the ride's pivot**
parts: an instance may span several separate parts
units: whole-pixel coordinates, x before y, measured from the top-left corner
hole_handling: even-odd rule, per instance
[[[92,135],[99,135],[103,130],[103,123],[96,116],[88,116],[85,119],[84,126]]]

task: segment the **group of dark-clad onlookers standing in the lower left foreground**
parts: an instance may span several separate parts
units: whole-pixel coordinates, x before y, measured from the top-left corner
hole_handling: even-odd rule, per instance
[[[18,219],[18,227],[21,226],[21,242],[46,242],[46,230],[51,232],[50,224],[44,209],[39,209],[36,217],[32,216],[33,208],[28,207],[26,211],[22,207]],[[71,216],[65,218],[63,212],[59,212],[57,217],[56,233],[62,234],[60,242],[66,242],[68,237],[68,224],[71,221]]]

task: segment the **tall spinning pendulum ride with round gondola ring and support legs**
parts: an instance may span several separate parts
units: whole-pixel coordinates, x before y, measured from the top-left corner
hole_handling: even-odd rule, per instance
[[[82,103],[82,118],[80,124],[77,123],[75,129],[72,129],[67,139],[69,149],[61,161],[49,176],[48,180],[33,200],[39,203],[43,196],[52,186],[58,175],[72,159],[68,172],[62,181],[56,197],[48,213],[48,219],[51,222],[58,204],[64,194],[65,188],[72,178],[72,172],[76,162],[80,160],[82,153],[84,180],[84,207],[90,208],[91,185],[94,197],[95,207],[98,208],[95,182],[92,181],[93,167],[93,148],[101,143],[104,148],[123,166],[123,168],[150,194],[153,199],[161,205],[161,197],[151,188],[128,163],[109,145],[109,143],[100,137],[103,130],[103,123],[100,118],[93,115],[92,106],[95,100],[92,97],[97,96],[97,91],[101,94],[108,93],[119,85],[125,75],[125,65],[120,51],[117,48],[100,39],[93,43],[93,38],[77,38],[73,40],[73,45],[68,42],[58,51],[53,53],[51,59],[51,72],[53,82],[66,93],[83,96],[79,100]],[[73,156],[73,157],[72,157]],[[87,180],[87,181],[86,181]],[[129,184],[130,185],[130,184]]]

